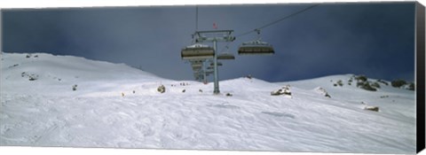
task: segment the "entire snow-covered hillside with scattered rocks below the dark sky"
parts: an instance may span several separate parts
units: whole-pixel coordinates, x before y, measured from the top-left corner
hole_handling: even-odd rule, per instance
[[[415,151],[414,91],[382,82],[376,91],[360,89],[351,74],[239,78],[221,81],[221,95],[213,95],[213,83],[71,56],[3,53],[1,65],[1,145]],[[291,97],[271,95],[287,85]],[[365,110],[375,106],[378,112]]]

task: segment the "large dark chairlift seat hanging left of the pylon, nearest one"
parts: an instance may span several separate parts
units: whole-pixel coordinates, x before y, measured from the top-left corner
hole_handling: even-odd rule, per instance
[[[201,43],[195,43],[191,46],[186,46],[181,51],[182,59],[191,60],[191,59],[207,59],[213,58],[215,56],[215,50]]]

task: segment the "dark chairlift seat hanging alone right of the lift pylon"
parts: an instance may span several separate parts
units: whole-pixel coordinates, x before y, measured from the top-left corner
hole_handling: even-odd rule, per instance
[[[260,41],[242,43],[238,49],[239,55],[272,55],[274,53],[271,44]]]

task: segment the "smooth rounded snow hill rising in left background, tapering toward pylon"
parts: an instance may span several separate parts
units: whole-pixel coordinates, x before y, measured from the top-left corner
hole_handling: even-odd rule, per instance
[[[2,53],[1,80],[8,93],[65,96],[127,89],[129,82],[168,81],[124,64],[46,53]]]

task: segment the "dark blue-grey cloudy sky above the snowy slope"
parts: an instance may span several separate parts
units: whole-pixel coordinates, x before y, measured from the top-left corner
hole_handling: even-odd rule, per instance
[[[312,4],[201,5],[199,30],[241,35]],[[190,45],[195,6],[100,7],[2,11],[2,50],[48,52],[141,66],[174,80],[193,80],[180,50]],[[242,35],[229,44],[220,80],[252,74],[294,81],[330,74],[414,81],[414,3],[319,4],[262,29],[275,55],[238,56]],[[218,43],[219,52],[226,43]],[[211,81],[211,77],[210,77]]]

